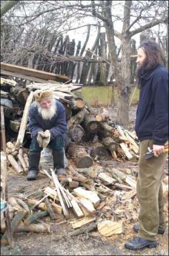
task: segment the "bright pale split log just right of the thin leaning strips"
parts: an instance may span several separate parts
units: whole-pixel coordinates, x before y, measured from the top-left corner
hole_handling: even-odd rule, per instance
[[[90,200],[94,204],[94,207],[99,206],[100,198],[97,196],[97,193],[95,191],[84,190],[82,189],[82,187],[77,187],[77,189],[74,189],[73,191],[78,197]]]

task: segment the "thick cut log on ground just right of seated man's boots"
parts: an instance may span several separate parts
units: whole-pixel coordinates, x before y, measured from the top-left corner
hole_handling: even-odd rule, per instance
[[[86,152],[84,147],[69,144],[68,153],[73,157],[78,168],[88,168],[91,167],[93,160],[90,155]]]

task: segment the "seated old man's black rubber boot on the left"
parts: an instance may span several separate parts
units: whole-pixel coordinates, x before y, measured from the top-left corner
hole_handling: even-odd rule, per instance
[[[29,152],[29,171],[27,175],[28,181],[33,181],[37,179],[40,157],[41,152]]]

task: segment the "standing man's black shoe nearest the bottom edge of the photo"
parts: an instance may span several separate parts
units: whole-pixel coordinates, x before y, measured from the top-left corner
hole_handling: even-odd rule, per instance
[[[146,240],[144,238],[135,237],[134,240],[126,242],[124,245],[127,249],[130,250],[143,250],[144,248],[154,248],[157,247],[156,241]]]

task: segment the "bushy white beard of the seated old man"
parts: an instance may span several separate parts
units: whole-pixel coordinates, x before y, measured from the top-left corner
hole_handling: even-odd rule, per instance
[[[48,109],[42,108],[39,103],[37,103],[37,107],[38,107],[39,114],[41,114],[44,120],[51,120],[52,117],[54,117],[57,112],[55,100],[52,101],[52,106]]]

